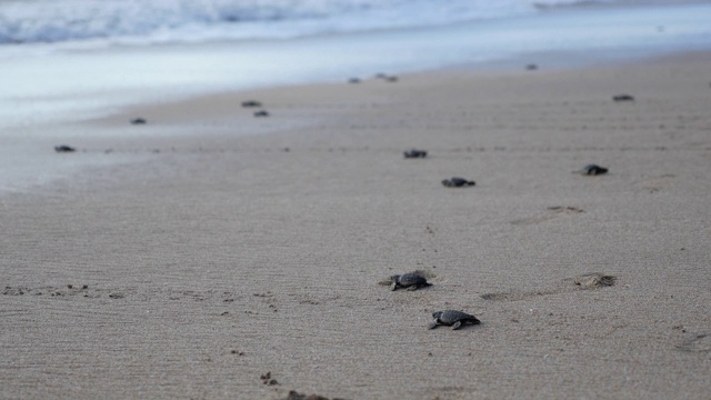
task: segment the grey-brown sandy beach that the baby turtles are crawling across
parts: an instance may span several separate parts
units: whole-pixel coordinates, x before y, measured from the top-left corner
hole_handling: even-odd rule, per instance
[[[439,71],[88,122],[104,139],[48,157],[136,162],[0,200],[0,398],[708,398],[710,62]],[[590,162],[610,172],[570,173]],[[431,288],[379,284],[415,269]],[[592,272],[617,280],[575,284]],[[482,324],[428,330],[448,308]]]

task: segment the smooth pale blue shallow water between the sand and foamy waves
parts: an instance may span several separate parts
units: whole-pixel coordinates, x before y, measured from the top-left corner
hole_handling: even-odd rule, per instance
[[[711,46],[710,4],[571,8],[443,27],[192,44],[0,48],[0,191],[78,168],[51,146],[119,107],[259,87],[475,64],[534,52],[584,62]],[[662,28],[663,27],[663,28]],[[82,162],[88,158],[82,158]],[[77,161],[78,162],[78,161]],[[93,161],[91,161],[93,162]],[[91,163],[89,162],[89,163]]]

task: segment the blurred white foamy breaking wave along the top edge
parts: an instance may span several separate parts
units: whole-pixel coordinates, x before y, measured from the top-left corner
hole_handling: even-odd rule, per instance
[[[0,43],[202,41],[445,24],[581,0],[0,1]],[[583,0],[608,3],[612,0]]]

